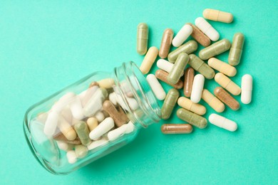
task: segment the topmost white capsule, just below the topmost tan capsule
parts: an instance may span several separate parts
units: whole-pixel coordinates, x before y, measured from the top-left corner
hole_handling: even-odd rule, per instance
[[[208,23],[205,18],[198,17],[195,19],[195,25],[210,38],[212,41],[218,41],[219,33]]]

